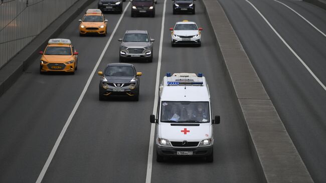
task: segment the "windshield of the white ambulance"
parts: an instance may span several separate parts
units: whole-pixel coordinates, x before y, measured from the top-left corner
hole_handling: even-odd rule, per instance
[[[161,122],[210,122],[208,102],[162,101],[160,115]]]

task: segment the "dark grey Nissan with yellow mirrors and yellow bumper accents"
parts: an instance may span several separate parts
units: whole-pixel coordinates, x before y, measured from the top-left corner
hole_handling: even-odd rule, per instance
[[[130,97],[138,101],[139,98],[139,76],[132,64],[113,63],[108,64],[104,72],[99,71],[102,76],[99,84],[99,100],[108,97]]]

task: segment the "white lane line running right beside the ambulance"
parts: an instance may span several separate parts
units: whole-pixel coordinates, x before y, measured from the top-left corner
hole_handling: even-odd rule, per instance
[[[167,3],[167,0],[164,0],[162,25],[161,25],[160,40],[159,40],[158,62],[157,62],[157,70],[156,70],[154,107],[153,107],[152,114],[156,114],[156,109],[157,109],[157,100],[158,100],[157,94],[158,94],[158,85],[159,85],[160,63],[161,63],[161,59],[162,59],[162,45],[163,45],[163,35],[164,35],[163,34],[164,33],[164,22],[165,22],[165,15],[166,15],[166,3]],[[155,124],[151,123],[149,147],[148,147],[148,158],[147,158],[146,183],[150,183],[150,181],[151,181],[151,169],[152,169],[154,136],[155,136],[154,132],[155,132]]]

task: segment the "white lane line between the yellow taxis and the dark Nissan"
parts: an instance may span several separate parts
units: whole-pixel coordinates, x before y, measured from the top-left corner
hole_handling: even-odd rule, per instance
[[[66,130],[67,130],[67,128],[68,128],[68,126],[69,126],[69,124],[70,124],[72,118],[74,117],[74,115],[75,115],[75,113],[76,113],[76,111],[77,111],[77,109],[78,109],[78,107],[79,107],[79,104],[80,104],[81,101],[83,100],[84,95],[85,95],[85,93],[86,93],[86,91],[87,91],[87,88],[88,88],[88,86],[89,86],[91,80],[93,79],[93,76],[94,76],[94,74],[95,74],[95,72],[96,72],[96,70],[97,70],[97,67],[99,66],[100,62],[102,61],[102,58],[103,58],[103,56],[104,56],[104,54],[105,54],[105,52],[106,52],[106,50],[107,50],[107,48],[108,48],[108,46],[109,46],[109,44],[110,44],[112,38],[113,38],[113,36],[114,36],[114,34],[115,34],[115,32],[116,32],[116,30],[117,30],[117,28],[118,28],[118,26],[119,26],[119,24],[120,24],[120,22],[121,22],[123,16],[124,16],[124,13],[126,12],[126,10],[127,10],[127,8],[128,8],[129,5],[130,5],[130,2],[127,4],[126,8],[124,9],[124,11],[123,11],[123,13],[122,13],[122,15],[121,15],[121,17],[120,17],[118,23],[116,24],[116,26],[115,26],[115,28],[114,28],[112,34],[111,34],[111,37],[109,38],[108,42],[106,43],[106,45],[105,45],[105,47],[104,47],[104,50],[102,51],[102,54],[101,54],[100,58],[98,59],[98,61],[97,61],[96,65],[95,65],[95,67],[94,67],[94,69],[93,69],[91,75],[89,76],[89,78],[88,78],[88,80],[87,80],[87,83],[86,83],[86,85],[85,85],[85,87],[84,87],[82,93],[80,94],[79,99],[78,99],[78,101],[77,101],[77,103],[76,103],[74,109],[73,109],[72,112],[70,113],[70,116],[68,117],[68,119],[67,119],[67,121],[66,121],[66,124],[64,125],[64,127],[63,127],[63,129],[61,130],[61,133],[60,133],[60,135],[59,135],[59,137],[58,137],[56,143],[54,144],[54,146],[53,146],[53,148],[52,148],[52,150],[51,150],[51,153],[50,153],[50,155],[49,155],[47,161],[45,162],[45,164],[44,164],[44,166],[43,166],[43,169],[42,169],[42,171],[41,171],[41,173],[40,173],[38,179],[36,180],[36,183],[40,183],[40,182],[42,181],[42,179],[43,179],[43,177],[44,177],[46,171],[48,170],[48,167],[49,167],[49,165],[50,165],[50,163],[51,163],[51,161],[52,161],[52,159],[53,159],[53,156],[54,156],[54,154],[56,153],[56,151],[57,151],[57,149],[58,149],[58,147],[59,147],[59,145],[60,145],[60,142],[61,142],[63,136],[65,135]]]

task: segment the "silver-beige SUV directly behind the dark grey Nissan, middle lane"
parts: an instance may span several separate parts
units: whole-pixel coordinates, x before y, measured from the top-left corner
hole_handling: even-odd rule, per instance
[[[153,41],[147,31],[126,31],[121,41],[119,61],[125,60],[153,60]]]

